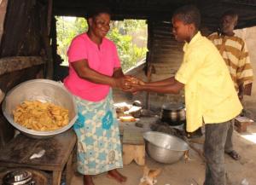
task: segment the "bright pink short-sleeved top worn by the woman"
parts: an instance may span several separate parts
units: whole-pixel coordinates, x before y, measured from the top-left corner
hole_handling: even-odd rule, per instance
[[[64,84],[73,95],[86,101],[101,101],[109,92],[109,85],[95,84],[79,78],[70,63],[87,60],[91,69],[111,77],[113,68],[120,67],[119,56],[114,43],[108,38],[103,38],[100,49],[93,43],[86,33],[73,38],[67,51],[69,74],[64,79]]]

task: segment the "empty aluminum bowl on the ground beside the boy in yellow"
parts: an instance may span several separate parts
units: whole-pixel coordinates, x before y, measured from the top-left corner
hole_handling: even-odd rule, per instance
[[[148,131],[143,137],[148,155],[160,163],[173,164],[189,150],[189,145],[177,136]]]

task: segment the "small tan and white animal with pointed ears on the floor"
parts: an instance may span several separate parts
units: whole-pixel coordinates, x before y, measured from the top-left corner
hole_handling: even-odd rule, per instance
[[[148,166],[144,166],[143,168],[143,177],[141,178],[141,182],[139,185],[154,185],[157,183],[156,177],[160,175],[161,170],[150,170]]]

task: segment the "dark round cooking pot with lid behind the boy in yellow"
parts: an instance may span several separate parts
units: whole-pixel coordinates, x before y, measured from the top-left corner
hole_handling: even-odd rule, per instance
[[[186,112],[183,103],[165,103],[161,108],[160,119],[172,126],[185,124]]]

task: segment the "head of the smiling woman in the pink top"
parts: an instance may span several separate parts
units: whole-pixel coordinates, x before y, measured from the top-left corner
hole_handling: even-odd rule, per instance
[[[87,16],[89,32],[97,38],[104,38],[110,29],[110,20],[110,9],[104,6],[92,7]]]

